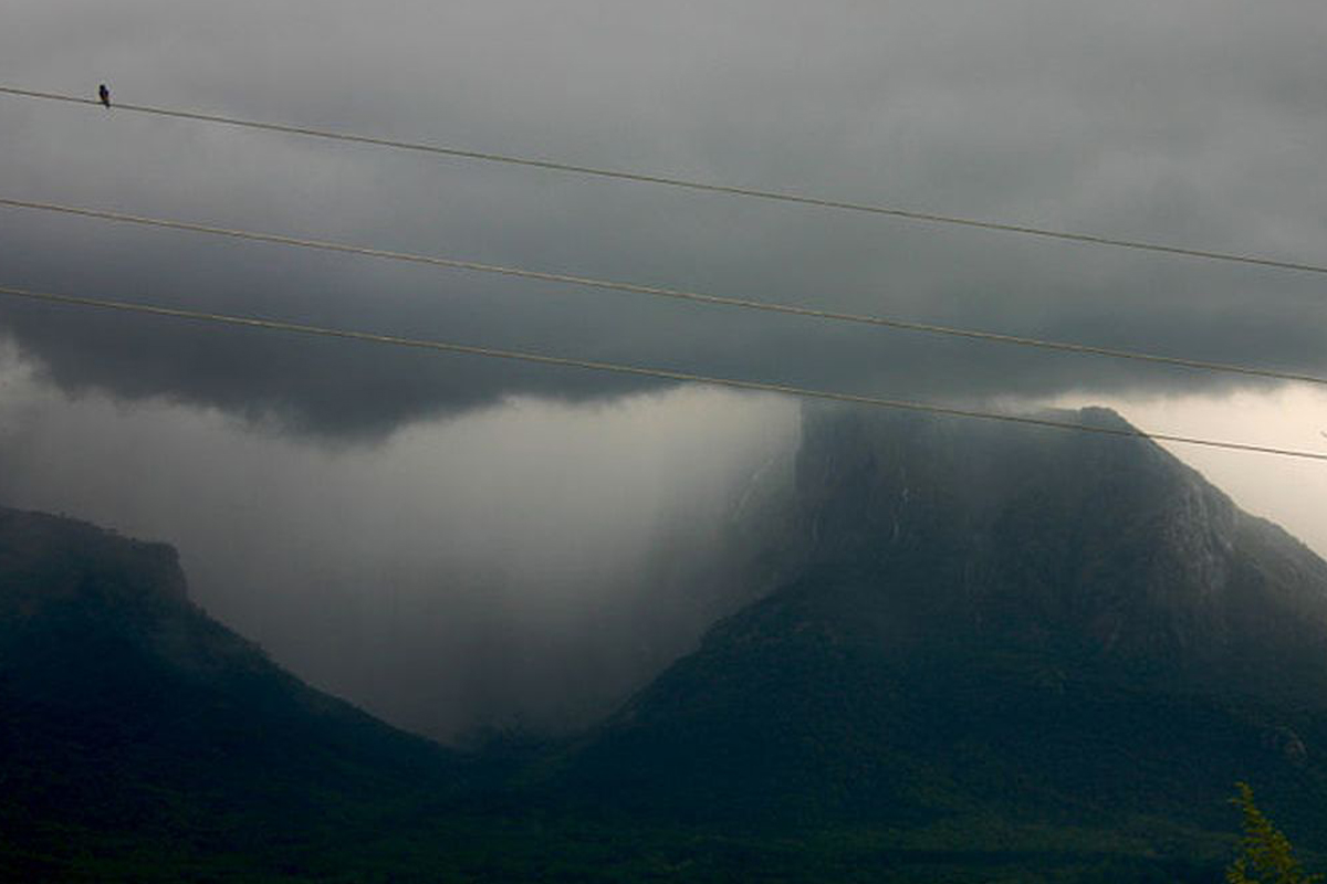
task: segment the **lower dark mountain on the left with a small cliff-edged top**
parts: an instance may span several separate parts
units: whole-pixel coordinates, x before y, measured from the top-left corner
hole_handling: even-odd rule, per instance
[[[256,880],[273,851],[299,877],[314,856],[285,847],[470,775],[208,618],[171,547],[0,509],[0,877]]]

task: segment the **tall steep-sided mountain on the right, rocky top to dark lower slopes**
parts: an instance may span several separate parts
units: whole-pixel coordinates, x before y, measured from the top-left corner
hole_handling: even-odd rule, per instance
[[[1327,848],[1307,547],[1148,440],[855,408],[808,410],[803,433],[782,584],[549,765],[551,794],[1156,854],[1218,844],[1245,779]]]

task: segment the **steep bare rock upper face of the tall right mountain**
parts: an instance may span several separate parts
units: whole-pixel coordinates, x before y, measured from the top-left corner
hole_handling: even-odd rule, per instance
[[[1327,702],[1327,563],[1152,443],[819,410],[798,485],[808,571],[873,583],[896,631]]]

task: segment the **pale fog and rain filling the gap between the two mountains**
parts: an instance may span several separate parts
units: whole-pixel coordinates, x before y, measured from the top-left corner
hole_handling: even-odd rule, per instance
[[[212,615],[398,725],[559,730],[750,599],[719,553],[786,488],[798,414],[698,388],[512,400],[309,448],[216,411],[70,400],[11,358],[0,501],[176,545]]]

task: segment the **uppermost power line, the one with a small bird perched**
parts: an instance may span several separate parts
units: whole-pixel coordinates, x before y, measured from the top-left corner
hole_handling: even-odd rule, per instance
[[[76,105],[90,105],[101,106],[98,101],[92,98],[81,98],[78,95],[69,95],[64,93],[52,91],[37,91],[32,89],[19,89],[15,86],[0,86],[0,94],[7,95],[20,95],[24,98],[38,98],[44,101],[62,101]],[[1089,245],[1109,245],[1124,249],[1139,249],[1144,252],[1158,252],[1162,254],[1177,254],[1193,258],[1208,258],[1213,261],[1231,261],[1235,264],[1253,264],[1257,266],[1278,268],[1282,270],[1302,270],[1306,273],[1327,273],[1327,265],[1322,264],[1307,264],[1300,261],[1283,261],[1278,258],[1262,257],[1258,254],[1241,254],[1237,252],[1218,252],[1213,249],[1198,249],[1188,248],[1181,245],[1165,245],[1162,243],[1151,243],[1145,240],[1128,240],[1117,239],[1111,236],[1096,236],[1093,233],[1074,233],[1070,231],[1055,231],[1051,228],[1034,227],[1028,224],[1014,224],[1007,221],[989,221],[974,217],[962,217],[958,215],[940,215],[937,212],[925,212],[920,209],[898,208],[892,205],[880,205],[872,203],[853,203],[847,200],[833,200],[824,199],[819,196],[808,196],[803,193],[795,193],[791,191],[770,191],[754,187],[736,187],[731,184],[713,184],[707,182],[697,182],[683,178],[671,178],[667,175],[650,175],[645,172],[629,172],[612,168],[601,168],[594,166],[579,166],[576,163],[563,163],[557,160],[536,159],[529,156],[516,156],[510,154],[494,154],[488,151],[464,150],[459,147],[446,147],[442,144],[431,144],[426,142],[406,142],[397,140],[391,138],[378,138],[374,135],[357,135],[353,133],[340,133],[325,129],[312,129],[308,126],[291,126],[285,123],[267,123],[255,119],[243,119],[239,117],[222,117],[219,114],[207,114],[202,111],[191,110],[176,110],[171,107],[154,107],[151,105],[133,105],[115,102],[115,110],[133,111],[139,114],[154,114],[158,117],[174,117],[178,119],[192,119],[208,123],[222,123],[226,126],[239,126],[243,129],[256,129],[272,133],[284,133],[288,135],[307,135],[309,138],[322,138],[338,142],[352,142],[357,144],[372,144],[376,147],[390,147],[395,150],[415,151],[423,154],[437,154],[442,156],[456,156],[462,159],[483,160],[490,163],[504,163],[508,166],[527,166],[532,168],[544,168],[557,172],[572,172],[576,175],[592,175],[596,178],[612,178],[624,182],[637,182],[644,184],[664,184],[667,187],[679,187],[690,191],[702,191],[709,193],[725,193],[729,196],[747,196],[762,200],[774,200],[779,203],[794,203],[799,205],[815,205],[817,208],[828,209],[843,209],[848,212],[864,212],[869,215],[885,215],[889,217],[904,219],[909,221],[926,221],[932,224],[949,224],[957,227],[978,228],[985,231],[1001,231],[1005,233],[1022,233],[1024,236],[1038,236],[1052,240],[1064,240],[1070,243],[1084,243]]]

